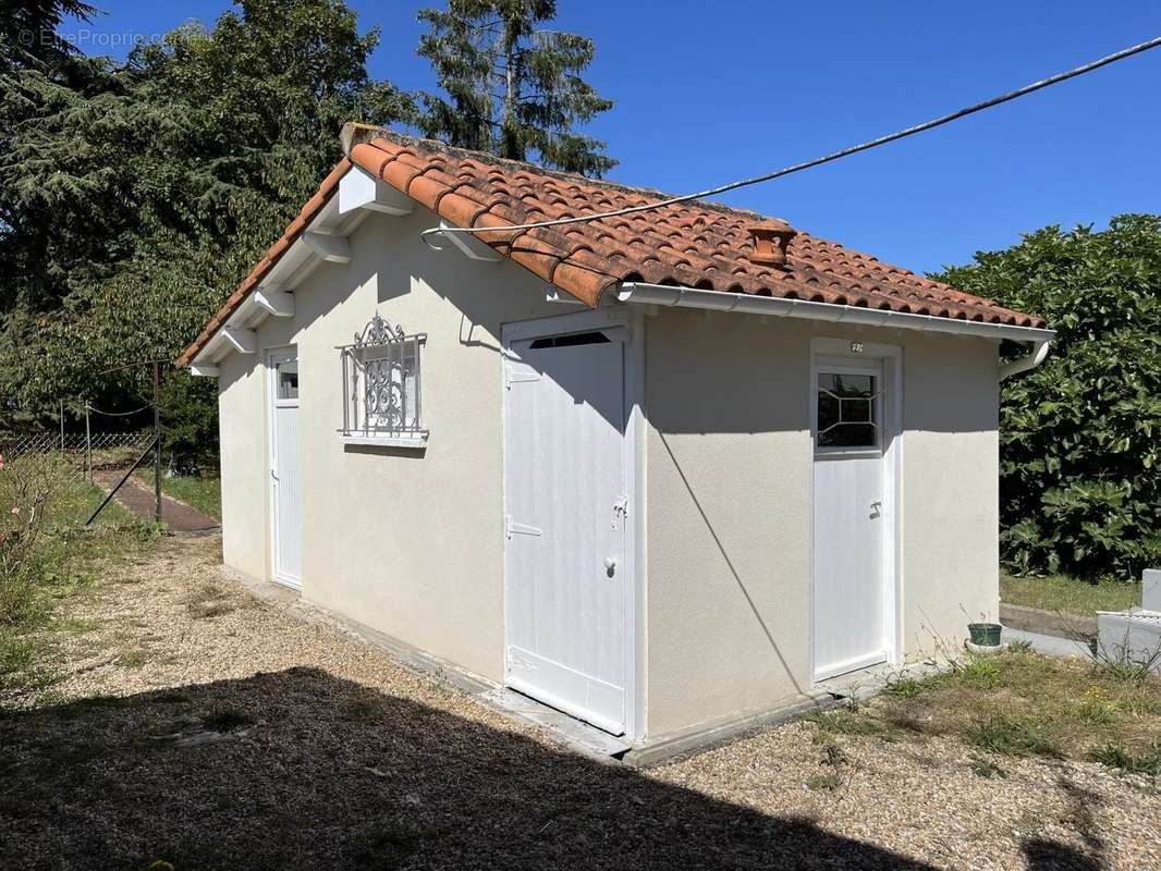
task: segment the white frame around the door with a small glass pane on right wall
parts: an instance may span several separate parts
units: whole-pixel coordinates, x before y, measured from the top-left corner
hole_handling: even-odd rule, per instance
[[[884,591],[884,643],[887,650],[887,662],[900,664],[903,650],[903,348],[900,345],[882,345],[861,339],[814,338],[810,340],[810,380],[807,384],[807,402],[810,419],[810,676],[817,684],[827,677],[815,678],[815,639],[814,639],[814,459],[815,433],[819,429],[819,406],[816,386],[820,369],[819,358],[848,358],[852,365],[858,361],[875,360],[882,362],[882,383],[887,389],[882,403],[882,487],[884,487],[884,548],[882,548],[882,591]]]

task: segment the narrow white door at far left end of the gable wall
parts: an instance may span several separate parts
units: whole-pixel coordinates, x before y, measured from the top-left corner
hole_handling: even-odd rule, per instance
[[[298,459],[298,353],[269,352],[271,504],[274,580],[302,586],[302,475]]]

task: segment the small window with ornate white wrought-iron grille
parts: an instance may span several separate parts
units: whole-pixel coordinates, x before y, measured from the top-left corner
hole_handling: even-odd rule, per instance
[[[339,348],[342,363],[342,429],[346,438],[421,440],[421,350],[426,333],[408,336],[378,314],[351,345]]]

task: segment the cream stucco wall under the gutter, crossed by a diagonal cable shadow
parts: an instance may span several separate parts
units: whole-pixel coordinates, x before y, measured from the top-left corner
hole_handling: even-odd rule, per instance
[[[810,340],[903,347],[902,641],[997,597],[996,347],[662,310],[646,319],[650,735],[810,686]],[[954,643],[954,642],[953,642]]]

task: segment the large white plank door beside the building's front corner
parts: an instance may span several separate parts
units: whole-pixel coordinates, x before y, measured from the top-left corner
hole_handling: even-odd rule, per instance
[[[519,339],[505,357],[505,679],[619,735],[625,330]]]

